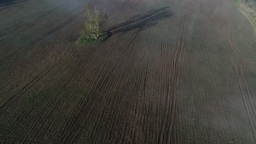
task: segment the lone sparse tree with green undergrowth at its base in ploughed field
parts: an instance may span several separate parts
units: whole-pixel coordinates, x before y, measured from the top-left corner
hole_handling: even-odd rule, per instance
[[[97,9],[93,5],[85,5],[85,29],[78,39],[79,44],[97,44],[106,40],[108,34],[102,31],[102,24],[106,20],[106,10]]]

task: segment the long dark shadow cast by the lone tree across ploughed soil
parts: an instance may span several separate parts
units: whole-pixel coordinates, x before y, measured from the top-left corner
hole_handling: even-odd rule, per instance
[[[150,10],[146,14],[139,14],[133,16],[126,22],[108,28],[107,32],[113,35],[117,33],[131,31],[132,29],[144,31],[149,27],[156,25],[159,20],[166,19],[167,17],[171,17],[172,15],[173,13],[169,9],[169,7]]]

